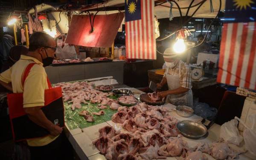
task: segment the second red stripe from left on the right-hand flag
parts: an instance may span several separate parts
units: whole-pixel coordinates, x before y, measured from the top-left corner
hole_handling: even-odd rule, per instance
[[[229,56],[229,60],[228,60],[229,63],[227,65],[227,70],[232,70],[234,52],[235,52],[234,46],[236,44],[237,27],[238,27],[238,23],[234,23],[233,31],[232,31],[232,38],[231,38],[231,45],[230,45],[230,56]],[[227,73],[226,84],[230,84],[230,78],[231,78],[231,73]]]

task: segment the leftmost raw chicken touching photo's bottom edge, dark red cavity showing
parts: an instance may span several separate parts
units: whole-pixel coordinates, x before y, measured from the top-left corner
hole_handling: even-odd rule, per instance
[[[128,147],[128,145],[127,145],[127,143],[125,143],[125,140],[121,139],[119,141],[116,141],[116,142],[112,143],[111,145],[109,145],[109,147],[107,149],[107,154],[105,155],[105,157],[108,160],[116,160],[120,154],[128,153],[127,147]]]

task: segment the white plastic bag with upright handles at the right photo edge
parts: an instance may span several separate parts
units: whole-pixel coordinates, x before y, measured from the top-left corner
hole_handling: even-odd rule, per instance
[[[251,154],[253,154],[254,157],[256,157],[256,114],[251,114],[249,115],[249,120],[252,122],[252,127],[248,127],[247,125],[244,124],[241,119],[235,117],[235,119],[238,119],[239,122],[244,125],[244,143],[245,143],[245,148],[250,151]]]

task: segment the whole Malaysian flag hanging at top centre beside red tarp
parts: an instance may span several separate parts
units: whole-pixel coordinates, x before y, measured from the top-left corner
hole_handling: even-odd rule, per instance
[[[156,59],[154,0],[125,0],[126,58]]]

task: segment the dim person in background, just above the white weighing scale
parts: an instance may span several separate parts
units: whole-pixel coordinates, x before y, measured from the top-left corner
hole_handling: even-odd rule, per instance
[[[200,52],[210,52],[211,51],[211,46],[204,41],[204,35],[198,35],[198,42],[195,44],[195,46],[197,46],[198,44],[200,44],[200,46],[195,47],[192,51],[191,51],[191,60],[190,63],[191,64],[195,64],[197,61],[197,57],[198,57],[198,53]],[[201,42],[204,41],[202,44]]]

